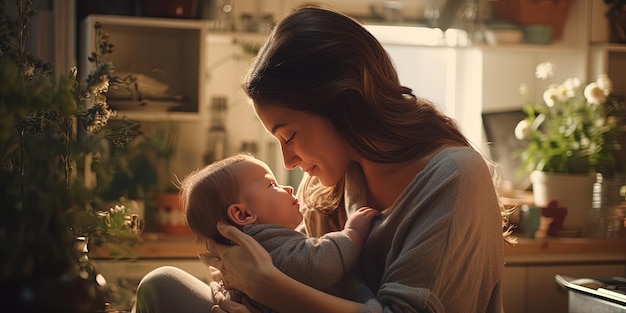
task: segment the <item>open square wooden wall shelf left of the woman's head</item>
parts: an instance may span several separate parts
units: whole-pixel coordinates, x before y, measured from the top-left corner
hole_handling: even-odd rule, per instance
[[[86,75],[101,25],[113,53],[115,74],[132,75],[143,99],[109,90],[108,103],[120,117],[134,120],[198,119],[205,108],[206,22],[199,20],[89,15],[80,25],[79,73]],[[86,76],[81,78],[84,81]]]

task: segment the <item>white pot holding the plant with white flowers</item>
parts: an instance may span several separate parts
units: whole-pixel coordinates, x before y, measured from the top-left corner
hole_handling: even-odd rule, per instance
[[[530,174],[535,205],[547,207],[558,201],[559,207],[567,208],[563,230],[582,234],[588,226],[593,200],[593,184],[596,174],[555,174],[533,171]]]

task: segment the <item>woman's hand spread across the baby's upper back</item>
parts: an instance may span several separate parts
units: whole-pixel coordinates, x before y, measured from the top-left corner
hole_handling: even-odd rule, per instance
[[[207,248],[212,257],[206,258],[206,263],[220,271],[226,287],[241,290],[254,298],[256,288],[262,285],[260,282],[278,269],[269,253],[254,238],[226,223],[219,222],[217,228],[237,245],[209,240]]]

